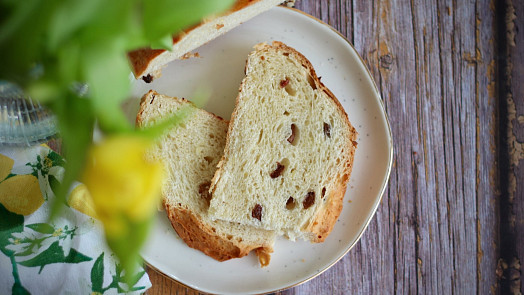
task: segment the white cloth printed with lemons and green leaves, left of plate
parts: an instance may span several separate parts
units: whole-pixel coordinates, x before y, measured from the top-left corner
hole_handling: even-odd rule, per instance
[[[147,273],[123,283],[99,221],[78,202],[49,220],[63,164],[46,146],[0,148],[0,294],[144,293]]]

